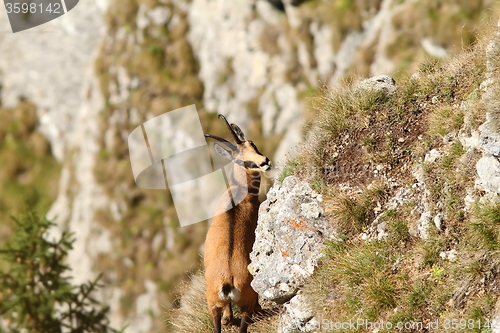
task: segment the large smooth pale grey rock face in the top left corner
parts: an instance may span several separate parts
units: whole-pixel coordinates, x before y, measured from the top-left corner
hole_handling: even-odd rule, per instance
[[[33,101],[40,131],[61,162],[74,143],[93,134],[78,136],[83,133],[79,127],[87,124],[81,119],[82,101],[91,90],[91,64],[104,32],[106,7],[105,1],[81,1],[75,10],[27,33],[0,35],[2,104],[13,106],[20,96]],[[10,30],[8,22],[2,12],[1,31]]]

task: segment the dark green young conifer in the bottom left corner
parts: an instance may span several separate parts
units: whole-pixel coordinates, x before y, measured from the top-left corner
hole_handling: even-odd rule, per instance
[[[15,220],[13,237],[0,250],[7,270],[0,272],[0,316],[8,332],[107,333],[108,307],[92,297],[99,278],[74,286],[64,263],[74,239],[63,232],[48,241],[54,224],[29,211]],[[0,332],[2,332],[0,327]]]

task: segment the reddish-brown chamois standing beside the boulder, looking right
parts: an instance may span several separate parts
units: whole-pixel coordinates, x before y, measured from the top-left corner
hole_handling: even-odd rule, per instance
[[[219,141],[214,144],[215,151],[233,161],[234,166],[227,190],[215,205],[205,240],[207,303],[215,333],[221,332],[221,324],[233,321],[231,302],[241,308],[240,333],[244,333],[251,315],[260,309],[247,266],[257,227],[260,172],[270,170],[271,161],[245,139],[237,125],[229,125],[222,114],[219,118],[226,123],[235,144],[218,136],[205,136]]]

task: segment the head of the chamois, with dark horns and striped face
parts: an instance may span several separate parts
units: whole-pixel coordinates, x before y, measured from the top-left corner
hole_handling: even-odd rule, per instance
[[[226,117],[219,114],[219,118],[222,118],[226,123],[235,143],[215,135],[205,134],[207,138],[219,141],[214,145],[217,154],[233,161],[247,170],[260,172],[270,170],[271,161],[259,152],[253,141],[247,140],[243,131],[237,125],[229,124]]]

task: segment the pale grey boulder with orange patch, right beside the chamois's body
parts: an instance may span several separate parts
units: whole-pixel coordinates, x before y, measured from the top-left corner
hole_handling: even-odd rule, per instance
[[[324,241],[335,238],[320,201],[307,182],[294,176],[269,190],[259,209],[249,266],[252,287],[263,298],[291,299],[314,272]]]

